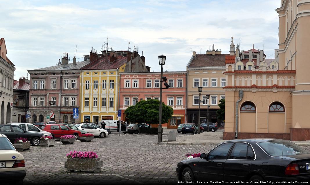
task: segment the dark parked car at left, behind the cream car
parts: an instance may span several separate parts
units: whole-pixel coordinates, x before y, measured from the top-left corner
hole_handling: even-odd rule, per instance
[[[43,136],[41,133],[27,132],[23,128],[11,124],[1,124],[0,133],[6,135],[11,143],[14,143],[16,138],[23,137],[27,138],[28,141],[30,141],[30,143],[34,146],[38,146],[40,144],[40,138]]]

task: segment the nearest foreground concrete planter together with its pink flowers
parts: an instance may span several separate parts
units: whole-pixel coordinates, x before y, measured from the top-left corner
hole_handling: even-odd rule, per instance
[[[90,170],[93,172],[100,172],[103,166],[102,160],[98,158],[97,153],[93,151],[70,151],[67,153],[67,161],[64,162],[64,167],[67,172],[74,172],[74,170]]]

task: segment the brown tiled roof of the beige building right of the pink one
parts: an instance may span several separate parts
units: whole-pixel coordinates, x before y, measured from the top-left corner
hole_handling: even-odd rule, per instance
[[[229,54],[206,55],[200,54],[193,58],[188,67],[219,67],[225,66],[225,56]]]

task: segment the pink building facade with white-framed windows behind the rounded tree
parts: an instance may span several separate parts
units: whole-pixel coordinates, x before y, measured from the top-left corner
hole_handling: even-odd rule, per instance
[[[173,108],[172,118],[163,127],[177,128],[185,122],[186,72],[163,72],[170,85],[162,90],[162,102]],[[121,120],[127,121],[125,110],[135,105],[136,100],[158,99],[160,93],[160,72],[120,73],[119,110]]]

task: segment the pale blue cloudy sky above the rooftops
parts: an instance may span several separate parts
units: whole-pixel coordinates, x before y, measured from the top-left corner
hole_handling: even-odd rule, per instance
[[[0,0],[0,37],[15,65],[15,79],[27,70],[56,65],[63,53],[82,61],[90,48],[138,46],[151,71],[185,71],[192,56],[209,46],[229,53],[231,37],[241,50],[278,48],[280,0]],[[77,45],[77,52],[76,52]],[[110,49],[109,49],[110,50]],[[76,54],[75,54],[76,53]],[[73,61],[70,61],[70,63]]]

